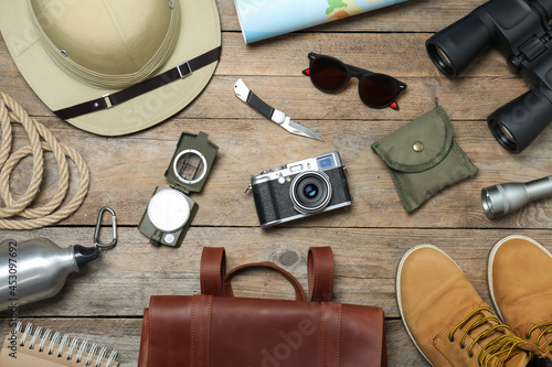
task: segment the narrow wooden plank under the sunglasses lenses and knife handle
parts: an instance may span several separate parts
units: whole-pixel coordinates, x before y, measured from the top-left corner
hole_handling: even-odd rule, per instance
[[[233,93],[238,77],[215,76],[209,87],[191,105],[177,116],[189,119],[258,118],[258,115],[241,102]],[[285,110],[295,120],[412,120],[435,107],[437,99],[452,119],[482,120],[510,100],[528,91],[517,77],[478,77],[448,80],[444,77],[401,77],[407,90],[399,97],[400,111],[391,108],[371,109],[362,104],[357,82],[337,95],[318,90],[307,77],[250,76],[247,86],[275,108]],[[52,116],[36,96],[24,91],[22,85],[7,87],[6,93],[15,98],[31,116]],[[15,91],[18,90],[18,91]],[[19,98],[19,99],[18,99]],[[141,119],[159,108],[159,96],[144,111],[130,110],[128,117]],[[123,108],[124,106],[121,106]]]

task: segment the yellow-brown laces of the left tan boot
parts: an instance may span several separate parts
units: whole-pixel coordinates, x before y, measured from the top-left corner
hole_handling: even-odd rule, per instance
[[[448,341],[453,343],[455,341],[454,334],[458,328],[463,327],[464,325],[468,324],[468,322],[478,313],[487,311],[492,314],[492,311],[487,307],[482,306],[479,309],[474,310],[466,319],[464,319],[458,325],[456,325],[450,333],[448,334]],[[474,357],[474,347],[477,345],[477,343],[484,338],[486,338],[489,334],[493,332],[499,332],[499,333],[505,333],[505,331],[511,331],[511,328],[508,325],[505,325],[498,320],[497,316],[491,315],[491,316],[480,316],[479,319],[476,319],[473,321],[464,331],[461,338],[460,338],[460,348],[464,349],[466,347],[466,337],[468,334],[477,328],[478,326],[481,326],[482,324],[487,322],[493,322],[496,325],[487,328],[485,332],[480,333],[477,335],[477,337],[474,338],[471,344],[468,347],[468,357],[471,358]],[[552,322],[551,322],[552,325]],[[523,350],[518,348],[518,345],[524,343],[521,338],[517,337],[513,334],[502,334],[489,343],[487,343],[481,350],[479,350],[479,355],[477,356],[477,361],[479,366],[485,366],[485,367],[497,367],[500,365],[500,363],[505,363],[508,358],[520,354],[524,353]]]

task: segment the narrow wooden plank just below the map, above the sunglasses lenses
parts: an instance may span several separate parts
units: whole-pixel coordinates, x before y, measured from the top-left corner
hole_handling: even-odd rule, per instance
[[[308,52],[331,55],[347,64],[396,77],[438,76],[425,50],[427,33],[308,33],[283,42],[245,45],[235,33],[223,33],[216,75],[297,76],[308,67]],[[407,61],[407,62],[404,62]],[[506,60],[485,50],[463,76],[511,76]]]

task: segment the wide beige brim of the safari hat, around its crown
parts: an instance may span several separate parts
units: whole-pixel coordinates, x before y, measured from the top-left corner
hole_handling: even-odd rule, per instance
[[[180,0],[178,43],[162,73],[221,45],[221,23],[214,0]],[[0,0],[0,31],[26,83],[52,110],[99,98],[117,89],[99,89],[60,69],[39,41],[29,0]],[[68,119],[100,136],[120,136],[159,123],[189,105],[211,79],[216,62],[121,105]]]

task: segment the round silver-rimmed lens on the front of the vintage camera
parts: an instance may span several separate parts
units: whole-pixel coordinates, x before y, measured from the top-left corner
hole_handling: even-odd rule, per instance
[[[291,182],[291,201],[295,208],[304,214],[321,212],[331,199],[331,184],[321,171],[307,171]]]

